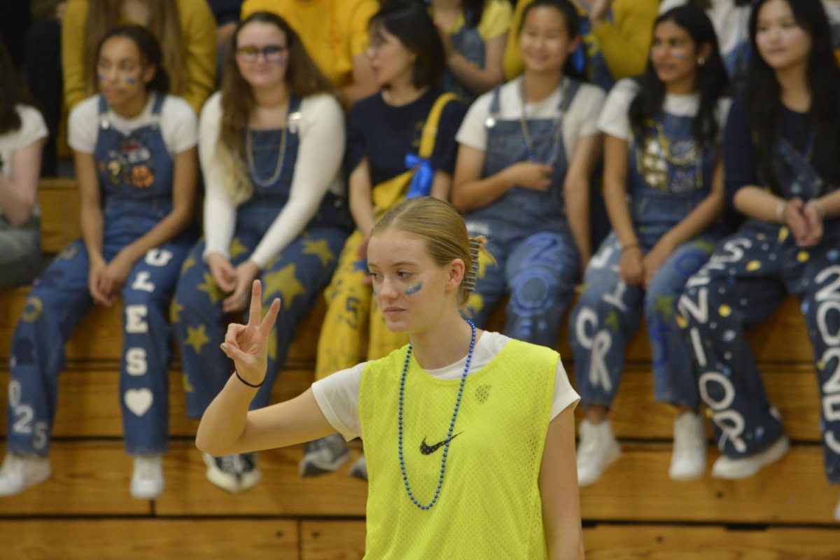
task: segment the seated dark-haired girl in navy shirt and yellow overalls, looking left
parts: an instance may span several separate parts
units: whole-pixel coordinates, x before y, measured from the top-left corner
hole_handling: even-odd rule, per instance
[[[465,107],[438,86],[444,45],[426,9],[392,2],[370,18],[370,66],[381,92],[350,111],[347,155],[350,210],[356,231],[347,240],[326,297],[327,315],[318,338],[315,379],[377,359],[406,338],[386,329],[371,301],[365,266],[375,220],[407,196],[449,196],[455,166],[455,131]],[[363,332],[369,336],[362,347]],[[302,476],[339,468],[349,458],[341,437],[307,444]],[[365,478],[364,457],[351,469]]]

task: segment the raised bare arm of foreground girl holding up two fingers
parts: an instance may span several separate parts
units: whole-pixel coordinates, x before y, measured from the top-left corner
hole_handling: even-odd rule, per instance
[[[262,317],[262,286],[251,290],[249,322],[231,324],[222,350],[234,360],[234,374],[216,395],[198,425],[196,447],[211,455],[229,455],[284,447],[335,432],[323,416],[312,390],[292,400],[249,411],[257,388],[265,379],[268,337],[280,311],[275,299]]]

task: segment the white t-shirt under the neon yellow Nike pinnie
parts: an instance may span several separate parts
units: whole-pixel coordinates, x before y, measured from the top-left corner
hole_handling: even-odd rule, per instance
[[[470,374],[474,374],[505,348],[511,338],[499,332],[486,331],[475,341],[473,358],[470,362],[470,372],[467,374],[467,383],[470,383]],[[435,379],[459,379],[464,374],[464,366],[467,357],[465,356],[454,364],[440,369],[428,369],[426,373]],[[312,384],[312,394],[323,412],[323,416],[332,427],[336,429],[344,439],[350,441],[354,437],[361,436],[361,425],[359,419],[359,385],[365,365],[359,364],[350,369],[342,369],[324,379]],[[394,379],[400,372],[394,372]],[[563,362],[557,361],[557,373],[554,379],[554,397],[551,405],[551,419],[560,412],[571,406],[576,406],[580,396],[572,389],[569,383],[569,376],[563,367]]]

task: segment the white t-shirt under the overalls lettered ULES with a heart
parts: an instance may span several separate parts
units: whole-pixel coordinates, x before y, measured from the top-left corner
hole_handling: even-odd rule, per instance
[[[123,134],[153,123],[155,117],[152,115],[152,106],[157,95],[150,95],[143,111],[134,118],[123,118],[108,108],[108,122]],[[198,143],[196,113],[181,97],[166,96],[163,107],[160,107],[158,122],[166,150],[172,156],[181,154]],[[67,125],[67,144],[77,152],[92,154],[96,149],[98,136],[99,96],[94,95],[76,105],[71,111]]]

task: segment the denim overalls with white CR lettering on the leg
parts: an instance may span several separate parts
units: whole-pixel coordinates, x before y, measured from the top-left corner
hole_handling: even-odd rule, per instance
[[[643,138],[630,146],[627,191],[633,228],[645,254],[711,190],[717,150],[709,146],[701,156],[696,154],[693,120],[659,113],[655,123],[645,127]],[[660,144],[657,126],[669,147]],[[666,160],[665,149],[687,163]],[[647,290],[621,280],[622,246],[616,233],[601,243],[586,267],[584,291],[570,317],[575,379],[584,406],[612,405],[624,372],[627,342],[642,317],[653,353],[656,400],[691,408],[700,405],[676,306],[685,281],[706,263],[718,236],[713,226],[680,245],[664,260]]]

